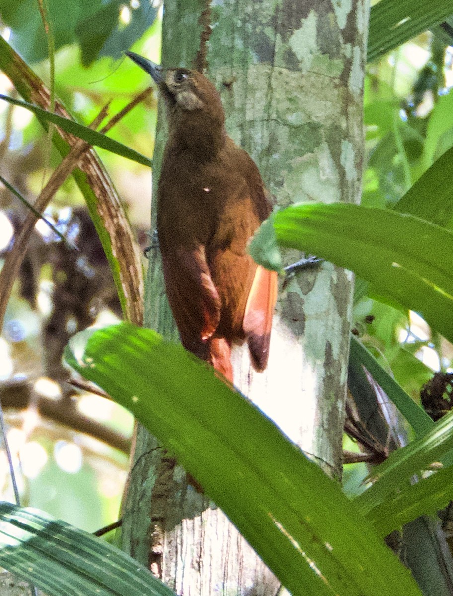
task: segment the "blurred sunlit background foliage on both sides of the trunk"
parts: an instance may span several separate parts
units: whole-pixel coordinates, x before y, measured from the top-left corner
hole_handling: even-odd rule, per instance
[[[162,6],[158,1],[48,0],[55,45],[55,96],[89,124],[110,103],[125,107],[148,85],[122,52],[133,48],[160,60]],[[0,33],[46,83],[48,40],[38,2],[0,0]],[[367,66],[362,202],[391,207],[453,145],[453,48],[423,33]],[[0,93],[17,97],[0,74]],[[151,157],[156,94],[138,105],[110,135]],[[151,172],[98,150],[127,206],[142,247],[148,240]],[[0,175],[33,202],[58,156],[35,117],[0,102]],[[120,406],[67,383],[61,352],[68,337],[91,324],[117,320],[120,309],[94,227],[69,178],[46,212],[80,252],[67,249],[38,222],[8,306],[0,338],[0,397],[7,408],[22,503],[94,531],[117,517],[126,480],[132,418]],[[14,242],[23,205],[0,182],[0,250]],[[452,228],[453,221],[443,222]],[[356,289],[355,329],[362,342],[417,402],[433,371],[451,372],[453,347],[423,319]],[[82,432],[85,431],[85,432]],[[345,448],[357,451],[345,435]],[[365,464],[345,466],[344,485],[361,490]],[[4,454],[0,491],[12,500]]]

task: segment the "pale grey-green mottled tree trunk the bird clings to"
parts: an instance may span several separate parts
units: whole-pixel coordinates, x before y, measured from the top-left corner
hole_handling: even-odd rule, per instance
[[[367,26],[366,0],[169,1],[163,64],[197,67],[215,83],[226,129],[255,159],[280,206],[357,202]],[[154,190],[162,117],[158,126]],[[288,262],[299,256],[288,254]],[[352,287],[352,274],[330,263],[297,274],[281,287],[266,373],[250,368],[246,350],[234,353],[235,384],[336,478]],[[177,337],[157,251],[145,322]],[[275,594],[277,580],[237,530],[141,429],[134,461],[123,511],[126,551],[185,596]]]

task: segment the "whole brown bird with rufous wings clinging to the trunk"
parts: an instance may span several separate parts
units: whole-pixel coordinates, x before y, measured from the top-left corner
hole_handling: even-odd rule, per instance
[[[166,103],[157,234],[181,342],[232,382],[231,345],[247,340],[253,366],[262,371],[277,273],[247,254],[272,209],[260,173],[226,134],[221,99],[205,76],[126,54],[153,77]]]

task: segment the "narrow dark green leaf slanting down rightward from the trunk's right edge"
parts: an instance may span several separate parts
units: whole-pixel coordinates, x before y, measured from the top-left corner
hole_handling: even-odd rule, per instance
[[[402,387],[390,377],[376,358],[353,335],[350,336],[350,359],[363,365],[376,383],[387,393],[401,414],[406,418],[417,434],[424,434],[432,428],[433,421],[423,408],[411,399]]]

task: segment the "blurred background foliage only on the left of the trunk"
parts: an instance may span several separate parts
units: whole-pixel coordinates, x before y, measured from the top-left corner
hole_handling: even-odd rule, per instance
[[[79,122],[88,125],[108,103],[113,116],[148,85],[122,52],[135,44],[136,51],[160,60],[159,2],[51,0],[47,8],[55,39],[55,96]],[[38,3],[1,0],[0,33],[49,85]],[[2,73],[0,93],[18,97]],[[156,108],[155,97],[148,96],[110,135],[152,156]],[[136,237],[146,246],[151,170],[106,151],[99,154]],[[5,102],[0,103],[0,156],[0,175],[30,202],[60,161],[36,118]],[[25,207],[0,182],[0,254],[14,242],[24,215]],[[44,222],[36,225],[0,338],[0,396],[22,504],[94,532],[117,519],[133,421],[113,402],[71,387],[61,352],[76,331],[118,320],[121,313],[107,260],[72,178],[45,215],[80,252],[69,250]],[[2,499],[14,500],[4,452],[0,492]]]

